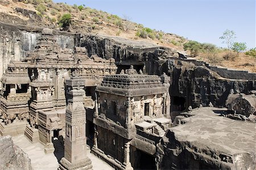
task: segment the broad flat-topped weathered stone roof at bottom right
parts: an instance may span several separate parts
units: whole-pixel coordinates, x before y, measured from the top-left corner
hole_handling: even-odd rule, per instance
[[[170,128],[158,146],[160,169],[255,169],[255,124],[201,107]]]

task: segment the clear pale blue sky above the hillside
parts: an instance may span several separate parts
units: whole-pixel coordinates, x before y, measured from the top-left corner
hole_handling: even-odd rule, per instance
[[[228,29],[236,32],[236,42],[256,47],[255,0],[53,0],[69,5],[85,5],[200,43],[222,44]]]

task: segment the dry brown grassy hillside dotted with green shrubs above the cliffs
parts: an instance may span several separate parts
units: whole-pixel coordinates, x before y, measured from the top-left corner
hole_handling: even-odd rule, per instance
[[[174,48],[177,51],[184,51],[183,44],[188,42],[182,36],[144,28],[142,24],[130,22],[129,17],[122,19],[117,15],[90,9],[82,5],[71,6],[65,3],[54,3],[51,0],[0,1],[0,22],[14,25],[50,27],[61,30],[62,28],[59,26],[58,21],[63,14],[68,13],[72,16],[71,26],[67,30],[70,32],[119,36]],[[225,60],[225,55],[225,50],[220,50],[214,54],[204,52],[200,53],[196,59],[222,67],[256,72],[253,59],[243,53],[241,53],[240,57],[235,57],[232,60]]]

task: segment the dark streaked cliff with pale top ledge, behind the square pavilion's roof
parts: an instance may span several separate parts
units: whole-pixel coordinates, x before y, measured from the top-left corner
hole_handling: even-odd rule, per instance
[[[141,69],[147,74],[160,74],[158,60],[177,56],[175,49],[104,35],[81,35],[80,46],[86,47],[89,56],[114,58],[118,65],[117,73],[134,65],[137,71]]]

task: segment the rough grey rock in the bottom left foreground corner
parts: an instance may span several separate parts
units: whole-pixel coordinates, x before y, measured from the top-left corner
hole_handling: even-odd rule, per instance
[[[0,136],[0,169],[32,169],[27,154],[13,143],[11,136]]]

